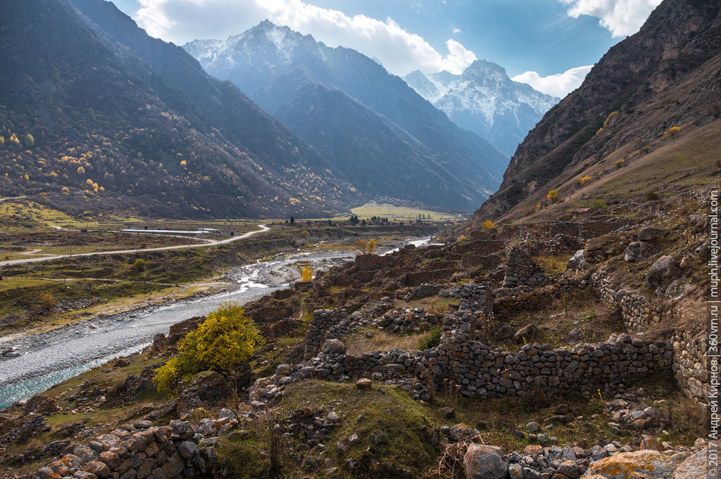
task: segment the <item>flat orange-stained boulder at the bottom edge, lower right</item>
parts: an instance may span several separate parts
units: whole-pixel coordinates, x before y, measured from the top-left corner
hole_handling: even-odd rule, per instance
[[[583,479],[672,479],[676,461],[658,451],[619,452],[591,462]]]

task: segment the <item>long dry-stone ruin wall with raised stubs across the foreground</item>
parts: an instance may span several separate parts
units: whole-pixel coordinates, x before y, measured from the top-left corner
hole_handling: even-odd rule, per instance
[[[461,294],[463,288],[466,288],[466,297]],[[460,386],[461,394],[472,398],[512,398],[539,386],[592,393],[597,388],[622,385],[638,375],[669,367],[673,362],[670,344],[640,341],[627,334],[612,335],[606,342],[580,344],[573,349],[553,349],[549,344],[538,343],[526,344],[518,352],[491,349],[472,340],[474,324],[483,321],[485,311],[490,309],[487,305],[492,304],[487,287],[472,284],[463,288],[454,291],[461,297],[461,304],[443,316],[441,344],[423,352],[394,349],[368,352],[359,357],[345,354],[344,347],[330,344],[333,339],[329,339],[331,334],[335,336],[336,331],[350,324],[345,310],[317,311],[311,324],[314,330],[306,336],[314,341],[306,346],[306,361],[293,367],[284,364],[276,375],[257,380],[251,388],[252,398],[273,398],[288,382],[311,377],[336,381],[374,377],[427,382],[428,375],[437,385],[446,379],[453,380]],[[333,347],[323,346],[322,338]]]

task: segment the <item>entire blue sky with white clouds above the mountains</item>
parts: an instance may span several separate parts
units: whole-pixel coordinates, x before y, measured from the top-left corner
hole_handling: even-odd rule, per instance
[[[577,88],[661,0],[112,0],[153,37],[225,40],[270,19],[404,76],[474,60],[555,97]]]

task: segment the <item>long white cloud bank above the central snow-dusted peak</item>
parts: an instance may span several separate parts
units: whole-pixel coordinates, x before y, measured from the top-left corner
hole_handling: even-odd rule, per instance
[[[150,35],[182,44],[197,38],[224,39],[263,19],[335,47],[342,45],[378,58],[389,71],[403,76],[420,69],[461,73],[476,55],[456,40],[439,53],[420,35],[404,30],[393,19],[385,22],[324,9],[302,0],[139,0],[135,19]]]

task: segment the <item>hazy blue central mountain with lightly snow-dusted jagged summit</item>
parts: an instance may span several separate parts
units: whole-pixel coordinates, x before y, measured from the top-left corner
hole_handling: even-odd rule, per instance
[[[316,147],[360,192],[472,210],[499,184],[503,153],[355,50],[267,21],[225,42],[183,48]]]

